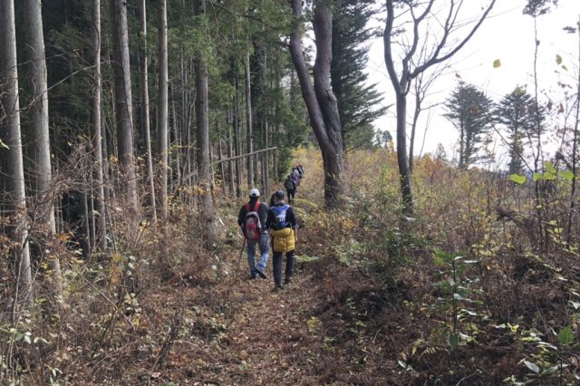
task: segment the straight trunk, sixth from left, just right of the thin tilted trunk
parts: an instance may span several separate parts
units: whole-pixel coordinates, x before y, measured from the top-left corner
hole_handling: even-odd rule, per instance
[[[167,218],[167,174],[168,174],[168,53],[167,53],[167,0],[159,0],[159,104],[157,111],[157,143],[160,157],[160,210]],[[176,125],[177,131],[177,125]]]

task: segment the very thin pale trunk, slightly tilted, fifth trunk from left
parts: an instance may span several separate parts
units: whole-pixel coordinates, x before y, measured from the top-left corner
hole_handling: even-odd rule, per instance
[[[139,9],[140,28],[141,28],[141,55],[140,55],[140,89],[141,89],[141,132],[143,133],[143,142],[145,145],[146,162],[147,162],[147,185],[149,188],[149,200],[151,217],[157,221],[157,205],[155,203],[155,175],[153,174],[153,154],[151,152],[151,130],[150,130],[150,111],[149,111],[149,80],[148,80],[148,53],[147,53],[147,8],[146,1],[141,0]]]

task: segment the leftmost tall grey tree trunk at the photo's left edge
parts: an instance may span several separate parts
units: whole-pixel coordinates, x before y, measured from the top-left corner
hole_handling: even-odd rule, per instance
[[[16,34],[14,27],[13,0],[0,1],[0,140],[8,147],[0,147],[5,159],[7,213],[13,216],[11,233],[17,242],[15,256],[18,262],[18,294],[26,304],[32,303],[32,274],[26,228],[26,196],[24,192],[24,165],[20,131],[20,103],[18,101],[18,72],[16,61]]]

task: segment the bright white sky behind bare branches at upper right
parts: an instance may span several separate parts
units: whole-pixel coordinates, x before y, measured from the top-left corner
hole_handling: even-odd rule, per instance
[[[445,3],[445,0],[441,1]],[[466,10],[470,7],[473,11],[469,12],[477,14],[481,12],[480,5],[487,2],[466,0],[465,3]],[[534,21],[531,16],[522,14],[526,3],[526,0],[498,0],[491,17],[484,21],[469,43],[449,60],[449,70],[431,85],[430,97],[423,105],[444,102],[458,84],[457,75],[462,81],[478,86],[494,101],[512,92],[517,85],[527,85],[527,91],[533,95]],[[384,18],[384,14],[381,17]],[[549,14],[538,17],[540,45],[537,72],[540,102],[546,102],[548,97],[553,101],[563,99],[563,93],[556,84],[558,76],[572,85],[575,83],[578,72],[578,35],[565,32],[563,27],[575,27],[578,17],[580,0],[559,0],[558,6]],[[382,38],[375,39],[369,53],[368,71],[371,74],[370,81],[379,84],[378,89],[385,95],[384,103],[389,105],[394,103],[394,98],[391,81],[384,66],[383,52]],[[562,56],[562,64],[565,64],[568,72],[556,65],[556,54]],[[501,66],[493,68],[496,59],[501,61]],[[560,75],[556,74],[558,69]],[[410,95],[408,111],[412,111],[412,99]],[[438,143],[443,144],[449,157],[456,150],[458,132],[441,116],[443,112],[441,107],[435,107],[421,113],[422,120],[415,143],[416,155],[419,154],[426,127],[428,130],[423,153],[434,152]],[[385,117],[374,123],[379,130],[391,131],[394,138],[393,117],[394,106]],[[499,142],[500,140],[498,147]],[[546,147],[548,148],[549,146]],[[503,163],[505,159],[498,161]]]

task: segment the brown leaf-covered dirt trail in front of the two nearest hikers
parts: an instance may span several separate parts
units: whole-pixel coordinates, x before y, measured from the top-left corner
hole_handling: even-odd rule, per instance
[[[298,272],[292,285],[275,291],[271,266],[269,261],[264,280],[232,277],[211,290],[181,293],[194,310],[186,320],[189,336],[174,343],[166,363],[172,370],[161,378],[186,384],[319,383],[321,325],[313,314],[320,299],[312,276]]]

